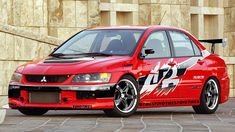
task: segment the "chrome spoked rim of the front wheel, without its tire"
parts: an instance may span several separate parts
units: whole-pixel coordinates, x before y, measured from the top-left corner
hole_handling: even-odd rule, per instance
[[[122,79],[118,82],[114,93],[114,104],[123,113],[128,113],[135,108],[137,90],[131,81]]]

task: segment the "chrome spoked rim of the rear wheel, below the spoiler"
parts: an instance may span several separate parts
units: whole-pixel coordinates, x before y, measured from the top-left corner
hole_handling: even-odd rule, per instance
[[[206,98],[206,105],[210,110],[213,110],[218,103],[219,100],[219,89],[218,85],[215,82],[215,80],[210,79],[206,83],[206,92],[205,92],[205,98]]]

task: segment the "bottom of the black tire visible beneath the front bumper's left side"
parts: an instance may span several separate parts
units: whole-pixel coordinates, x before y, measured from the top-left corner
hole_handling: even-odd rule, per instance
[[[34,115],[40,116],[47,113],[47,109],[40,109],[40,108],[22,108],[18,109],[24,115]]]

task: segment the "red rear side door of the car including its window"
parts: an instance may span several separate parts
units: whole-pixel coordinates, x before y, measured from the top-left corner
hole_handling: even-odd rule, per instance
[[[180,79],[177,90],[181,99],[197,99],[203,86],[206,63],[197,45],[181,31],[168,31],[174,62]]]

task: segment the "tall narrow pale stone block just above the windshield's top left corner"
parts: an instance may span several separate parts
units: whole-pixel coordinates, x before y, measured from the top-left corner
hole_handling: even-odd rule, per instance
[[[76,1],[76,27],[87,27],[87,1]]]

